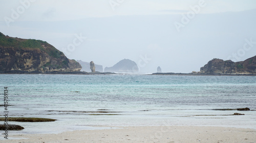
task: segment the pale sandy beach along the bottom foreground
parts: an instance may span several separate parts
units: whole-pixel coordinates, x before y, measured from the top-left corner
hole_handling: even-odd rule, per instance
[[[133,126],[59,134],[10,134],[9,137],[12,139],[5,139],[4,142],[256,142],[256,130],[203,126]]]

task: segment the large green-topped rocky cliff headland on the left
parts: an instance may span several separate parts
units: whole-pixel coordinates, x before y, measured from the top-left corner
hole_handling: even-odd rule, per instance
[[[0,71],[79,71],[81,65],[69,60],[47,42],[12,38],[0,33]]]

